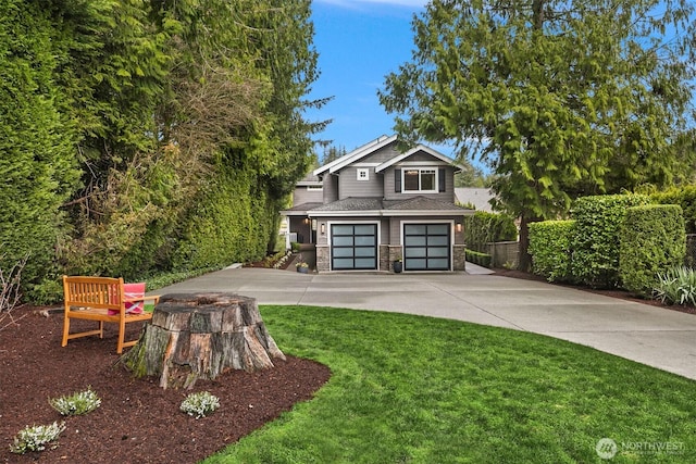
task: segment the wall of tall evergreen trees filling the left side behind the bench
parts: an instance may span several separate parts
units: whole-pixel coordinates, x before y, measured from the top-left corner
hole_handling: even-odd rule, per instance
[[[309,0],[10,0],[0,13],[2,251],[40,254],[27,266],[55,275],[135,278],[272,248],[324,124],[303,115],[323,104],[303,100],[318,77]]]

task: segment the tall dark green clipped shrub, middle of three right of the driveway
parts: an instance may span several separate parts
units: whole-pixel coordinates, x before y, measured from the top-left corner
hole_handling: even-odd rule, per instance
[[[591,287],[619,285],[619,233],[627,208],[648,204],[642,195],[583,197],[573,202],[573,278]]]

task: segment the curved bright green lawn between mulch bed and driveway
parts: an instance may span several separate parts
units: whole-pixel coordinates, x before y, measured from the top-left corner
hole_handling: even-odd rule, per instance
[[[696,462],[695,381],[456,321],[311,306],[261,314],[285,353],[328,365],[332,378],[206,464]],[[611,461],[595,451],[601,438],[618,443]]]

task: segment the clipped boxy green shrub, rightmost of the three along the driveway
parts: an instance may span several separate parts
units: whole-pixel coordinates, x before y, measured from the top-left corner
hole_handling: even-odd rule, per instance
[[[684,263],[686,234],[676,204],[629,208],[621,227],[619,274],[626,290],[649,297],[658,273]]]

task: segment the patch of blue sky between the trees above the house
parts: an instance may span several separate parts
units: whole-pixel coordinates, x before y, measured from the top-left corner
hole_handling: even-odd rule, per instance
[[[310,98],[334,97],[312,121],[333,120],[316,138],[350,151],[394,134],[394,116],[377,98],[385,76],[411,58],[411,20],[426,0],[314,0],[314,47],[321,75]],[[321,148],[316,148],[321,156]],[[451,155],[438,149],[444,154]]]

